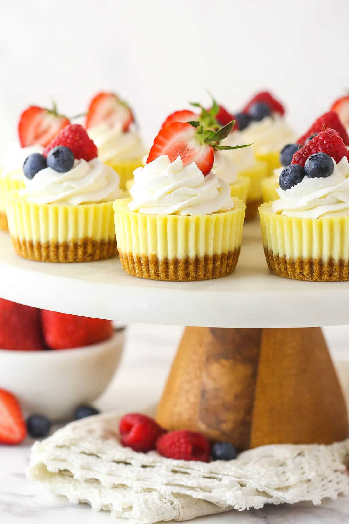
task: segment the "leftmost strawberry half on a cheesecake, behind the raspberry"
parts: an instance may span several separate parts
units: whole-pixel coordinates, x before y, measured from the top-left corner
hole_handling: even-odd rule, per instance
[[[18,135],[22,147],[40,144],[47,146],[50,141],[63,129],[69,125],[69,120],[57,113],[57,109],[52,110],[31,105],[20,116],[18,123]]]

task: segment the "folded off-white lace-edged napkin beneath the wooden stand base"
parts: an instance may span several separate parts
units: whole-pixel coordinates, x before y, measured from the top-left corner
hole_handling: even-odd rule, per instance
[[[349,495],[349,439],[262,446],[206,464],[122,447],[118,420],[114,414],[89,417],[35,443],[29,477],[72,503],[137,524]]]

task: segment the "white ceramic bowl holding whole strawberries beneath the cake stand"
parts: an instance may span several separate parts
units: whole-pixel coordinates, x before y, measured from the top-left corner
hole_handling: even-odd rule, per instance
[[[105,342],[60,351],[0,350],[0,388],[12,391],[26,416],[71,418],[106,389],[119,365],[124,331]]]

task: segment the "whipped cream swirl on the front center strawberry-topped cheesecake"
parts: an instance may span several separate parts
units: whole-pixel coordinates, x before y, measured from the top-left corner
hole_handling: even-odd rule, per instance
[[[183,167],[163,155],[134,170],[131,211],[153,215],[208,215],[229,211],[234,202],[230,187],[212,171],[204,177],[196,163]]]

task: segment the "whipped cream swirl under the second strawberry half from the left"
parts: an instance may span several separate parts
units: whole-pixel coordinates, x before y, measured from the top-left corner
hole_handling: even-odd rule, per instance
[[[98,149],[102,162],[123,162],[142,158],[144,146],[140,136],[134,131],[123,132],[119,123],[110,127],[105,122],[87,129]]]

